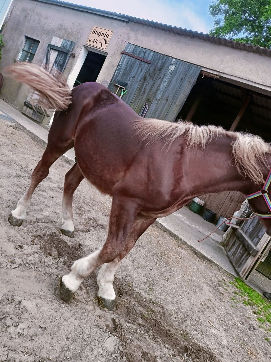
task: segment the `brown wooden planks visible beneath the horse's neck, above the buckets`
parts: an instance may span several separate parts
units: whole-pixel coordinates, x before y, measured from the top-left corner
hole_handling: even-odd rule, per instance
[[[207,194],[199,196],[205,201],[205,206],[216,213],[216,219],[219,216],[230,218],[235,211],[240,210],[245,201],[245,195],[237,191],[224,191],[216,194]]]

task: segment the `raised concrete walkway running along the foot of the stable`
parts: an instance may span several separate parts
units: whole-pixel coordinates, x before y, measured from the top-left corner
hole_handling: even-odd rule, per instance
[[[15,122],[18,129],[21,129],[40,145],[46,147],[48,129],[42,127],[37,122],[31,121],[2,99],[0,99],[0,121],[1,119]],[[74,164],[74,157],[74,149],[69,150],[65,155],[61,156],[61,158],[70,164]],[[228,271],[228,273],[238,276],[222,246],[222,236],[224,233],[216,230],[210,237],[202,241],[202,243],[198,243],[197,240],[202,239],[213,231],[215,225],[205,221],[201,216],[190,211],[188,207],[185,206],[165,218],[157,219],[156,225],[181,243],[188,245],[201,256],[219,265]],[[247,284],[259,293],[271,290],[271,280],[264,277],[258,271],[254,271],[251,274]]]

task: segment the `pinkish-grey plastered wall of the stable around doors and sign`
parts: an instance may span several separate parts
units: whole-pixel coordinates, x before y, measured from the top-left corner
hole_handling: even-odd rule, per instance
[[[13,0],[3,31],[5,47],[0,71],[18,59],[25,35],[40,41],[33,60],[39,65],[44,60],[48,43],[56,36],[75,42],[75,57],[69,58],[64,70],[68,77],[93,26],[113,30],[106,49],[108,56],[97,79],[106,86],[119,63],[121,50],[130,42],[222,74],[225,79],[237,79],[254,88],[263,88],[271,94],[271,59],[267,56],[34,0]],[[25,86],[5,78],[1,97],[21,109],[27,94]]]

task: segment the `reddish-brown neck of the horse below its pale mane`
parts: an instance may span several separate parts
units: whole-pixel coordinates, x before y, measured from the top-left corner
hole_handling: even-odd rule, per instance
[[[240,191],[252,187],[252,182],[238,174],[231,152],[231,136],[212,140],[203,150],[201,147],[189,149],[186,175],[190,192],[193,194],[216,193],[221,191]]]

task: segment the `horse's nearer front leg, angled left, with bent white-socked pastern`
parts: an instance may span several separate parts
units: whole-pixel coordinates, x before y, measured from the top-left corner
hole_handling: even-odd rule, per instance
[[[83,279],[94,269],[104,263],[110,263],[120,255],[137,212],[138,205],[133,199],[113,197],[108,235],[102,249],[75,261],[71,272],[62,277],[60,295],[65,302],[73,298]]]

